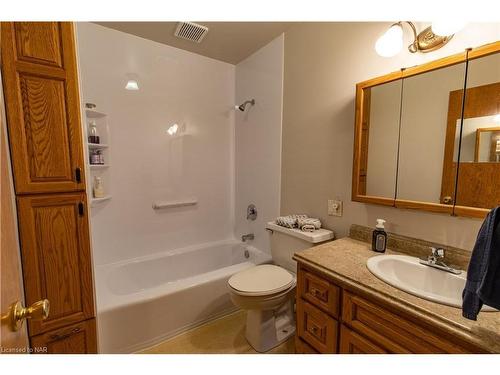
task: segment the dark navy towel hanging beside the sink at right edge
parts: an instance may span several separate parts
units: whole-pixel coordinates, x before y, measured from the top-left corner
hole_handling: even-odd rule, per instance
[[[467,282],[462,293],[462,315],[477,320],[483,304],[500,309],[500,206],[490,211],[477,235]]]

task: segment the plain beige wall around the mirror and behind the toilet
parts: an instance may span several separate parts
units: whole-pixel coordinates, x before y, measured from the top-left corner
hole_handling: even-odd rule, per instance
[[[281,213],[318,216],[338,237],[382,217],[389,231],[471,249],[480,220],[351,202],[355,84],[499,40],[500,26],[472,24],[439,51],[383,58],[373,46],[388,26],[309,23],[285,33]],[[344,201],[342,217],[327,216],[335,198]]]

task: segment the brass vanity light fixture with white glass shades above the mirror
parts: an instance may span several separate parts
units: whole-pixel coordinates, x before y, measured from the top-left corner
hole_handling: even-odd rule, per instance
[[[453,34],[463,27],[463,23],[433,23],[432,26],[425,28],[422,32],[417,33],[417,28],[410,21],[399,21],[391,25],[375,43],[375,50],[380,56],[392,57],[401,51],[403,47],[403,25],[410,26],[413,32],[413,42],[408,46],[408,51],[411,53],[416,52],[430,52],[441,48],[450,41]],[[446,32],[447,34],[438,34]]]

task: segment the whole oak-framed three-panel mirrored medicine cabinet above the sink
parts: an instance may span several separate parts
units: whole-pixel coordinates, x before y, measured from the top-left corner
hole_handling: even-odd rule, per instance
[[[484,217],[500,205],[500,42],[359,83],[355,125],[353,201]]]

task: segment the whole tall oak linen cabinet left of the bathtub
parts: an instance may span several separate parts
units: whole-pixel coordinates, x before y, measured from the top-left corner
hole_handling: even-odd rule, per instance
[[[2,22],[1,57],[32,347],[95,353],[96,323],[73,25]]]

